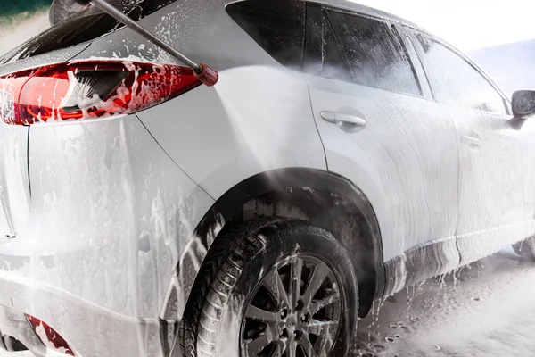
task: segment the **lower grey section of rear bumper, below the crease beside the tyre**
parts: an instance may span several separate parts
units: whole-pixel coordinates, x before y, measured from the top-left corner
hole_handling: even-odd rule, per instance
[[[171,342],[161,331],[169,331],[174,324],[168,328],[158,319],[120,315],[56,287],[4,271],[0,271],[0,292],[2,335],[14,336],[37,356],[44,356],[46,348],[30,328],[26,313],[54,328],[78,356],[161,356],[166,351],[169,355]]]

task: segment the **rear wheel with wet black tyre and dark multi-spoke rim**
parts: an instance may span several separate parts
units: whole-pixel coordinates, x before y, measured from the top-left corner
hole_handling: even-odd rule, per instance
[[[230,252],[209,262],[210,287],[196,289],[190,300],[202,302],[202,309],[184,324],[186,355],[348,353],[357,329],[358,285],[349,253],[331,233],[300,220],[276,220],[226,236]],[[294,271],[299,284],[291,281]]]

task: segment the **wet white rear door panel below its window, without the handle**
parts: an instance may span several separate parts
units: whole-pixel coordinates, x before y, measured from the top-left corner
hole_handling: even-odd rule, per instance
[[[438,104],[333,79],[310,76],[308,81],[329,169],[370,199],[384,260],[427,241],[454,237],[457,141],[450,118],[436,114]],[[323,111],[363,115],[366,129],[344,133],[322,119]]]

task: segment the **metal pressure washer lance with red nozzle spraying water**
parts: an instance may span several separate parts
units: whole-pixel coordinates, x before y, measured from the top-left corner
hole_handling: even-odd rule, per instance
[[[176,49],[163,42],[160,38],[152,35],[150,31],[139,25],[136,21],[130,19],[127,15],[120,12],[113,5],[108,4],[106,0],[75,0],[78,4],[88,5],[89,3],[99,7],[103,12],[110,15],[115,20],[122,22],[126,27],[133,29],[142,37],[148,39],[153,44],[158,45],[161,49],[171,54],[178,61],[183,62],[186,66],[193,70],[193,74],[197,79],[201,80],[203,84],[208,87],[214,86],[218,83],[219,74],[217,71],[211,69],[204,63],[195,63],[184,54],[179,53]]]

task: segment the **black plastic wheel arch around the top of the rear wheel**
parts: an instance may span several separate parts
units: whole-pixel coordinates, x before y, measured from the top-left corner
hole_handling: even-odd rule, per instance
[[[329,209],[320,210],[324,207]],[[359,316],[365,316],[374,298],[383,295],[383,243],[366,195],[333,172],[287,168],[245,179],[212,205],[185,246],[161,319],[182,319],[193,284],[202,279],[198,277],[202,262],[221,229],[231,222],[263,216],[306,219],[338,237],[350,252],[358,275]]]

